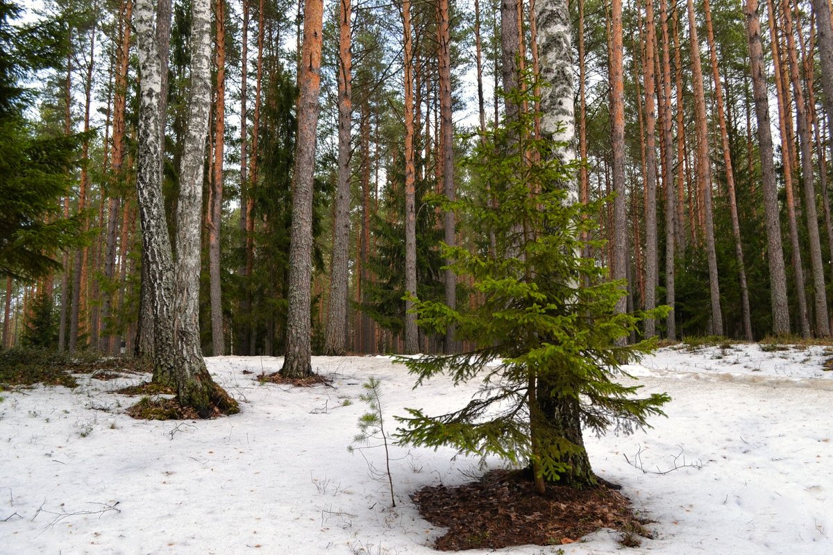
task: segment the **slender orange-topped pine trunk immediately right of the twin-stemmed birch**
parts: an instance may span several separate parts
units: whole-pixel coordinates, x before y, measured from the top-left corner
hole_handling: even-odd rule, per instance
[[[225,354],[222,332],[222,290],[220,285],[220,228],[222,225],[222,163],[226,134],[226,7],[225,0],[215,0],[215,41],[217,45],[217,103],[214,106],[214,175],[208,194],[206,225],[208,228],[208,274],[211,298],[212,354]]]

